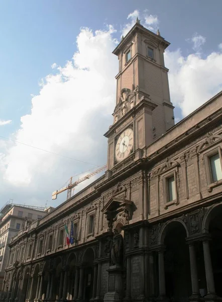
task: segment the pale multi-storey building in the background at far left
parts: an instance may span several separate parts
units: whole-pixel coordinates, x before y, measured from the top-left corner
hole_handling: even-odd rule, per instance
[[[0,289],[2,289],[5,268],[9,258],[8,244],[20,231],[23,231],[27,221],[30,223],[46,215],[44,207],[14,204],[7,202],[0,211]]]

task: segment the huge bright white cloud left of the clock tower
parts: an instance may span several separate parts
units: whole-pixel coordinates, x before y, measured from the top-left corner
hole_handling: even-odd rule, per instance
[[[112,26],[95,33],[81,29],[76,41],[78,52],[64,67],[58,67],[57,74],[41,81],[39,95],[32,98],[31,114],[21,117],[21,127],[13,139],[85,162],[105,163],[100,145],[104,148],[106,139],[103,133],[95,137],[95,130],[108,129],[115,107],[118,59],[112,54],[116,47],[113,33]],[[59,170],[59,162],[61,165],[58,157],[19,143],[10,146],[2,161],[5,181],[24,187],[32,185],[39,175],[51,178]],[[70,161],[64,164],[63,160],[63,165],[72,171],[71,176],[78,163],[73,162],[71,169]],[[85,165],[80,171],[89,167]]]

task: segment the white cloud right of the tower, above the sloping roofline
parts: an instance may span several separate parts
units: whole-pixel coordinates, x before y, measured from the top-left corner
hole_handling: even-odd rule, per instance
[[[180,49],[166,50],[165,64],[170,68],[171,101],[181,108],[183,117],[222,90],[222,53],[184,57]]]

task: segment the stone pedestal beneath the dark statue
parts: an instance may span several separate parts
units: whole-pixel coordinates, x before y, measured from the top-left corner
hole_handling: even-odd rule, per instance
[[[118,265],[110,266],[108,272],[108,292],[104,302],[121,301],[123,298],[123,268]]]

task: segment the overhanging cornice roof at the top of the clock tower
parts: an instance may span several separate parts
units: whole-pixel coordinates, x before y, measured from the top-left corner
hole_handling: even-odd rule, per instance
[[[129,33],[126,35],[126,37],[122,38],[120,44],[114,49],[113,53],[118,55],[120,53],[120,51],[130,42],[130,40],[132,39],[132,36],[136,32],[148,34],[148,35],[151,35],[152,37],[155,37],[157,40],[159,40],[160,43],[162,43],[164,45],[164,49],[166,49],[170,45],[170,43],[168,41],[166,41],[163,37],[161,37],[160,34],[155,34],[152,31],[150,31],[149,29],[145,28],[139,22],[136,22],[135,25],[129,31]]]

